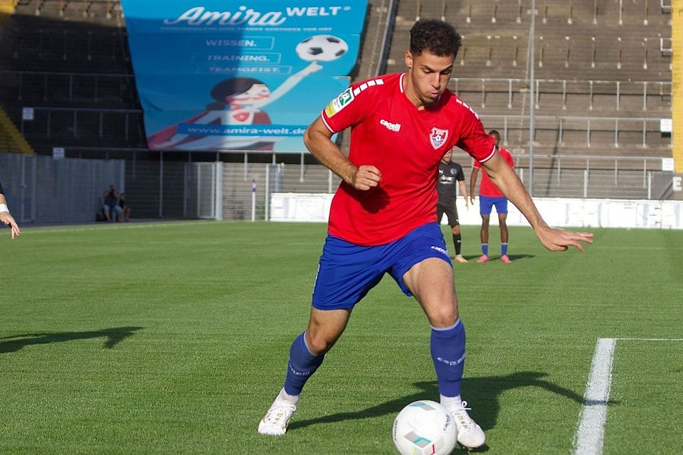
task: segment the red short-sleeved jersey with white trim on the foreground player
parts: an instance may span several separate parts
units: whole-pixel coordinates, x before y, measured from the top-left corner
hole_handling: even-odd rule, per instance
[[[353,164],[382,174],[369,191],[342,181],[332,199],[329,234],[356,245],[385,245],[436,222],[439,162],[452,146],[480,162],[494,154],[493,139],[469,105],[446,90],[436,105],[418,109],[403,92],[404,77],[351,85],[321,114],[330,132],[351,127]]]

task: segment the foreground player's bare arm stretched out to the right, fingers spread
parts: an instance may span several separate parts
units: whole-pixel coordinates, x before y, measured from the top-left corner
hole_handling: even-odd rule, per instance
[[[531,200],[529,192],[524,188],[517,174],[507,165],[499,154],[494,154],[491,159],[482,164],[486,168],[489,177],[500,188],[506,198],[529,220],[536,237],[541,244],[551,251],[564,251],[569,247],[576,247],[583,251],[583,244],[593,243],[593,234],[588,232],[571,232],[551,228],[541,217],[536,204]]]

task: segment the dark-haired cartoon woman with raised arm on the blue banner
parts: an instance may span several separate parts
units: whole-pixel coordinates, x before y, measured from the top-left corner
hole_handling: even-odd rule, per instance
[[[261,110],[285,95],[307,75],[321,70],[313,61],[306,68],[287,77],[282,85],[272,92],[268,85],[251,77],[232,77],[219,82],[211,90],[216,100],[206,106],[206,111],[184,120],[184,124],[221,125],[241,127],[270,124],[270,117]],[[149,149],[162,150],[272,150],[279,137],[227,136],[181,134],[178,125],[172,125],[152,134],[148,138]]]

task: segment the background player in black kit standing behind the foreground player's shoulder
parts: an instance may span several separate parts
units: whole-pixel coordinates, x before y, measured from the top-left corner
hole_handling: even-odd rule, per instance
[[[457,192],[455,191],[455,182],[460,185],[460,193],[465,198],[465,207],[469,205],[467,198],[467,187],[465,186],[465,174],[462,173],[462,166],[452,161],[453,151],[450,149],[441,159],[439,164],[439,181],[436,185],[436,191],[439,193],[439,202],[436,205],[436,220],[441,223],[443,214],[448,218],[448,225],[453,234],[453,245],[455,246],[455,261],[467,262],[467,259],[460,254],[461,239],[460,236],[460,221],[457,219],[457,207],[455,206],[455,199]]]

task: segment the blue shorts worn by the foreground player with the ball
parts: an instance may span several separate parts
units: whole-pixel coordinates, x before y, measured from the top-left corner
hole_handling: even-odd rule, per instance
[[[429,223],[386,245],[365,247],[327,235],[313,287],[315,309],[352,309],[385,273],[412,296],[403,275],[413,265],[438,257],[451,265],[441,228]]]

